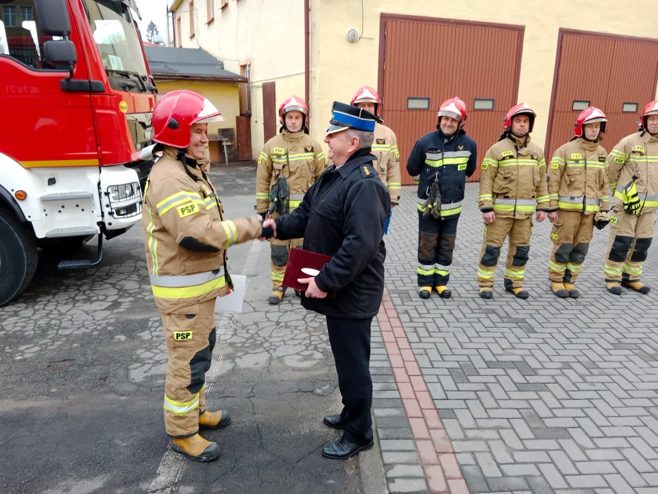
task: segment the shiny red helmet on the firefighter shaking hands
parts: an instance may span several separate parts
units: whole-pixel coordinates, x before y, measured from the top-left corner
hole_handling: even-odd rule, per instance
[[[219,110],[199,93],[178,89],[165,94],[153,108],[153,140],[174,148],[187,148],[193,124],[223,121]]]

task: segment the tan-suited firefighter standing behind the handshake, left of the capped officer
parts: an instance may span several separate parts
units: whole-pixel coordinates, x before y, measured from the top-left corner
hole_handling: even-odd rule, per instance
[[[308,135],[308,106],[300,97],[291,96],[279,107],[280,134],[265,143],[256,172],[256,211],[276,218],[298,207],[304,193],[327,167],[320,144]],[[286,292],[283,279],[291,248],[301,248],[304,239],[271,238],[272,293],[267,298],[277,305]],[[295,290],[295,294],[300,293]]]

